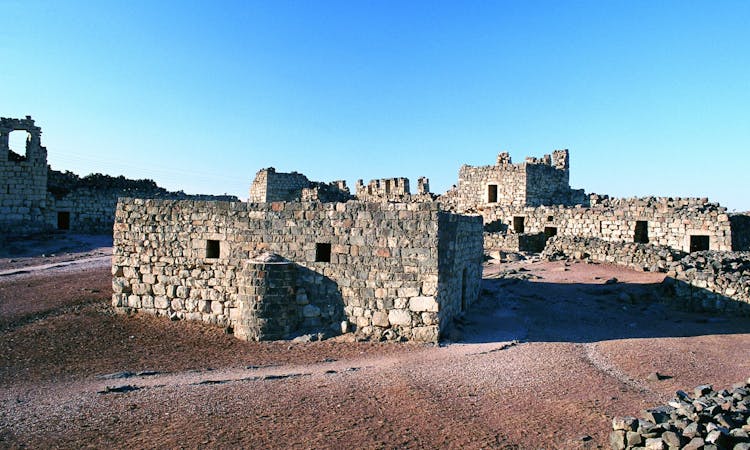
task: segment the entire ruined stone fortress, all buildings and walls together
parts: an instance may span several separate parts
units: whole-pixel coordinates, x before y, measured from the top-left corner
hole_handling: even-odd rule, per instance
[[[7,148],[19,129],[29,133],[25,157]],[[358,180],[352,195],[341,180],[267,168],[241,202],[53,188],[40,134],[28,117],[0,122],[0,231],[113,229],[121,311],[244,339],[353,331],[436,342],[477,300],[483,257],[534,251],[666,272],[686,305],[750,312],[750,216],[707,199],[587,195],[570,187],[567,150],[464,165],[443,195],[424,177],[414,194],[408,179],[384,178]]]

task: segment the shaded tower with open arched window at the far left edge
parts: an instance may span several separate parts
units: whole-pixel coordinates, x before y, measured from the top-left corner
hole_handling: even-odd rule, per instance
[[[13,131],[28,133],[25,155],[11,152],[8,138]],[[49,228],[45,222],[47,150],[41,145],[41,134],[30,116],[0,118],[0,234]]]

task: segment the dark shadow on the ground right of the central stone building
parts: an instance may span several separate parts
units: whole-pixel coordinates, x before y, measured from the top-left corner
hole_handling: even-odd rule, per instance
[[[750,333],[747,317],[702,312],[711,305],[674,297],[674,286],[672,281],[607,285],[485,279],[480,302],[466,316],[461,342],[585,343]],[[730,310],[740,303],[709,294],[714,305],[723,302]],[[747,311],[747,305],[742,307]]]

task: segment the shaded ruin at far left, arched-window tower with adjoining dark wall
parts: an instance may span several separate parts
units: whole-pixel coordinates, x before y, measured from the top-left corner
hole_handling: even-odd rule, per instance
[[[11,132],[27,134],[25,154],[9,147]],[[121,196],[145,198],[237,199],[234,196],[169,192],[151,180],[93,174],[78,177],[47,165],[42,130],[30,116],[0,118],[0,242],[11,237],[64,230],[109,233]]]

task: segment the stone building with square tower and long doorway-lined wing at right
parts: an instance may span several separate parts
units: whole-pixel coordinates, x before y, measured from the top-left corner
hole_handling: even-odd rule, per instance
[[[541,159],[512,164],[507,153],[497,165],[463,166],[456,188],[440,198],[459,213],[478,213],[485,224],[485,248],[541,251],[546,239],[598,238],[651,243],[694,252],[746,250],[747,216],[727,214],[705,198],[610,199],[568,185],[569,155],[557,150]]]

